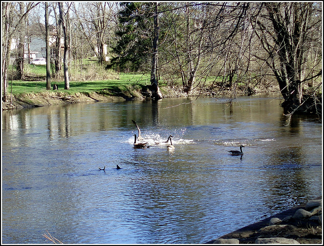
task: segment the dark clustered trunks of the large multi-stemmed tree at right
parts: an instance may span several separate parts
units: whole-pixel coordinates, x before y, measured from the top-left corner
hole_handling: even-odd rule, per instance
[[[281,4],[284,3],[266,3],[266,9],[269,14],[275,31],[275,41],[278,46],[279,66],[277,70],[272,66],[285,101],[282,103],[286,113],[294,112],[302,103],[302,71],[305,63],[306,26],[309,18],[309,8],[311,3],[288,3],[285,4],[285,11],[282,11]],[[292,10],[294,25],[290,27],[291,22],[288,13],[288,7]],[[280,72],[278,72],[280,71]]]

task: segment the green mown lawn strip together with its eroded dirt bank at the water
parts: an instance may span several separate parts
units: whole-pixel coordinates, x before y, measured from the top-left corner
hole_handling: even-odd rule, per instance
[[[99,81],[70,81],[70,89],[64,82],[52,81],[58,90],[46,90],[46,80],[10,81],[8,98],[3,110],[88,101],[132,100],[141,98],[141,90],[149,84],[143,74],[119,74],[118,78]],[[11,94],[12,92],[12,94]],[[11,103],[12,101],[12,103]]]

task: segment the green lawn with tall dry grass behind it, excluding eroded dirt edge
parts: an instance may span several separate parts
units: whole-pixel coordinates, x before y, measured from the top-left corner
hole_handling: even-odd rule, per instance
[[[72,69],[72,68],[71,68]],[[27,65],[26,80],[11,80],[9,76],[9,93],[20,94],[39,93],[46,90],[46,67],[42,65]],[[73,69],[72,69],[73,70]],[[149,76],[145,74],[126,74],[105,71],[98,66],[85,66],[83,72],[73,70],[70,76],[70,89],[64,90],[64,77],[51,78],[51,86],[56,84],[65,93],[91,93],[102,90],[124,91],[127,88],[138,89],[149,84]],[[101,79],[100,79],[101,78]]]

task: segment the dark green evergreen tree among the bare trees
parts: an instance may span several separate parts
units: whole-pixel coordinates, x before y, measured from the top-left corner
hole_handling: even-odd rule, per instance
[[[154,3],[120,3],[116,30],[116,54],[108,68],[143,71],[150,69]]]

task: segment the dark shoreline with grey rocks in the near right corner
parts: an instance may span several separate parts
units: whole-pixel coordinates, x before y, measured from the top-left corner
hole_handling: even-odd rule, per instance
[[[205,244],[322,244],[322,197]]]

